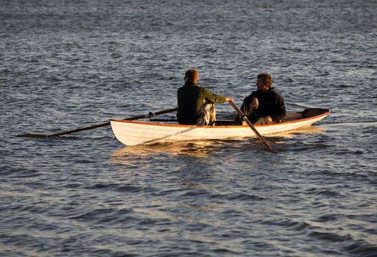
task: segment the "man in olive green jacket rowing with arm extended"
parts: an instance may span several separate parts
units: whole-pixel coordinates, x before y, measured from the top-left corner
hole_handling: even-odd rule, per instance
[[[212,125],[216,120],[215,103],[234,101],[233,98],[213,94],[206,87],[197,84],[197,70],[187,70],[184,86],[177,91],[180,124]]]

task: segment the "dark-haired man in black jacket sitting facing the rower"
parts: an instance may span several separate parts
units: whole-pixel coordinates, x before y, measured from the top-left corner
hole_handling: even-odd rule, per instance
[[[285,117],[284,99],[271,87],[273,81],[269,73],[260,73],[256,81],[256,91],[243,100],[241,111],[254,125],[280,122]],[[241,122],[237,116],[236,121]]]

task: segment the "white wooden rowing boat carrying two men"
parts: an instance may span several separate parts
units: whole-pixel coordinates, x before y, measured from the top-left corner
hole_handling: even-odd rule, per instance
[[[311,126],[324,119],[330,111],[321,108],[308,108],[290,112],[278,123],[255,125],[261,135],[280,133]],[[247,124],[236,125],[231,121],[217,121],[214,126],[168,124],[131,120],[110,120],[114,136],[126,146],[153,144],[166,141],[186,141],[201,139],[226,139],[230,137],[255,137]]]

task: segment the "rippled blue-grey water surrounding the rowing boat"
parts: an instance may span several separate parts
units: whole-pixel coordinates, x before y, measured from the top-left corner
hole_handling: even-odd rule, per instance
[[[376,1],[0,1],[1,256],[377,256]],[[187,68],[238,105],[271,72],[309,129],[125,147]],[[219,116],[232,113],[218,105]]]

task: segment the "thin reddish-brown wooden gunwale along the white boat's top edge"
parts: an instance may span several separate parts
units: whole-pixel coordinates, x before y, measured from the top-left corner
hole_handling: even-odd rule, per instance
[[[262,126],[278,126],[278,125],[283,125],[283,124],[291,124],[291,123],[296,123],[296,122],[303,122],[303,121],[306,121],[306,120],[314,120],[316,118],[320,118],[322,116],[328,116],[330,114],[330,110],[328,109],[324,109],[324,110],[327,110],[325,111],[324,113],[321,113],[319,115],[316,115],[316,116],[311,116],[311,117],[308,117],[308,118],[302,118],[302,119],[298,119],[298,120],[291,120],[291,121],[287,121],[287,122],[278,122],[278,123],[271,123],[271,124],[265,124],[265,125],[254,125],[256,128],[257,127],[262,127]],[[297,111],[296,113],[300,113],[302,111]],[[113,121],[113,122],[125,122],[125,123],[133,123],[133,124],[145,124],[145,125],[154,125],[154,126],[175,126],[175,127],[182,127],[182,128],[206,128],[206,129],[216,129],[216,128],[219,128],[219,129],[223,129],[223,128],[243,128],[243,127],[248,127],[247,124],[245,125],[221,125],[221,126],[206,126],[206,125],[188,125],[188,124],[165,124],[165,123],[156,123],[156,122],[141,122],[141,121],[135,121],[135,120],[117,120],[117,119],[111,119],[110,121]]]

